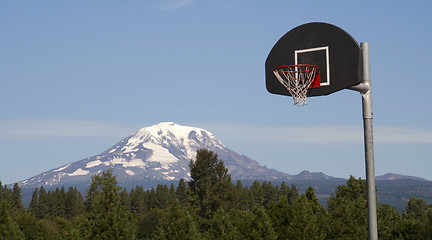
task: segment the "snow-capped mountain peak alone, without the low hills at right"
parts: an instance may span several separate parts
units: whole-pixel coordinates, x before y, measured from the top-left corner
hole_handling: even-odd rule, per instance
[[[140,185],[148,181],[190,178],[189,161],[196,150],[217,153],[233,179],[290,179],[292,176],[260,166],[223,145],[212,133],[172,122],[138,130],[105,152],[47,171],[19,183],[24,188],[89,184],[91,177],[112,168],[119,184]]]

